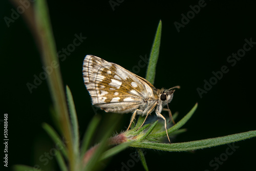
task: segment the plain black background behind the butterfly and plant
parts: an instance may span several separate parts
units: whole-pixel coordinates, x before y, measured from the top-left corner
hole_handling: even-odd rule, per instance
[[[178,32],[174,22],[181,23],[181,14],[186,15],[191,11],[189,6],[198,3],[123,1],[113,10],[109,1],[48,1],[58,51],[73,44],[75,34],[87,37],[60,61],[63,82],[70,87],[75,101],[81,135],[95,115],[82,79],[84,56],[96,55],[132,71],[138,66],[140,56],[150,56],[160,19],[162,37],[155,86],[181,86],[169,104],[173,113],[179,111],[178,120],[196,102],[199,103],[196,113],[184,126],[187,132],[173,141],[193,141],[255,130],[256,45],[233,67],[227,58],[243,48],[245,39],[252,38],[256,42],[256,2],[205,1],[206,6]],[[32,93],[26,86],[28,82],[33,83],[34,74],[39,76],[43,71],[42,64],[24,18],[19,17],[10,27],[4,22],[4,16],[11,16],[11,9],[16,10],[16,7],[8,1],[1,2],[0,119],[8,113],[9,166],[42,165],[38,156],[53,147],[41,127],[42,122],[54,125],[49,112],[52,101],[46,80]],[[203,89],[204,79],[209,81],[214,76],[212,72],[220,71],[224,65],[229,72],[200,98],[197,88]],[[144,77],[145,72],[146,67],[135,73]],[[100,115],[108,114],[100,112]],[[123,115],[117,132],[125,130],[130,117],[131,114]],[[218,170],[255,170],[255,142],[252,138],[234,143],[239,148],[219,164]],[[145,158],[150,170],[216,170],[216,165],[212,167],[209,162],[223,156],[227,147],[222,145],[195,153],[147,149]],[[114,156],[105,170],[121,170],[121,163],[129,161],[129,155],[135,152],[135,148],[129,148]],[[130,168],[142,169],[140,162]]]

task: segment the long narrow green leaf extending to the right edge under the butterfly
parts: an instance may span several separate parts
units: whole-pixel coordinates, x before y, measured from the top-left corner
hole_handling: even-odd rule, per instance
[[[245,133],[232,134],[224,137],[209,138],[209,139],[198,140],[198,141],[172,143],[172,144],[134,142],[133,144],[131,144],[131,146],[140,147],[140,148],[152,148],[152,149],[158,149],[158,150],[169,151],[169,152],[181,152],[181,151],[191,151],[195,149],[202,149],[202,148],[208,148],[212,146],[223,145],[231,142],[252,138],[255,136],[256,136],[256,131],[249,131]]]

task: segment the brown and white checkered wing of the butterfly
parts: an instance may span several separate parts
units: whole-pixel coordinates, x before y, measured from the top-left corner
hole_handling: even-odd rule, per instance
[[[154,86],[148,81],[97,56],[87,55],[84,58],[83,80],[92,104],[106,112],[131,112],[146,99],[154,98]]]

